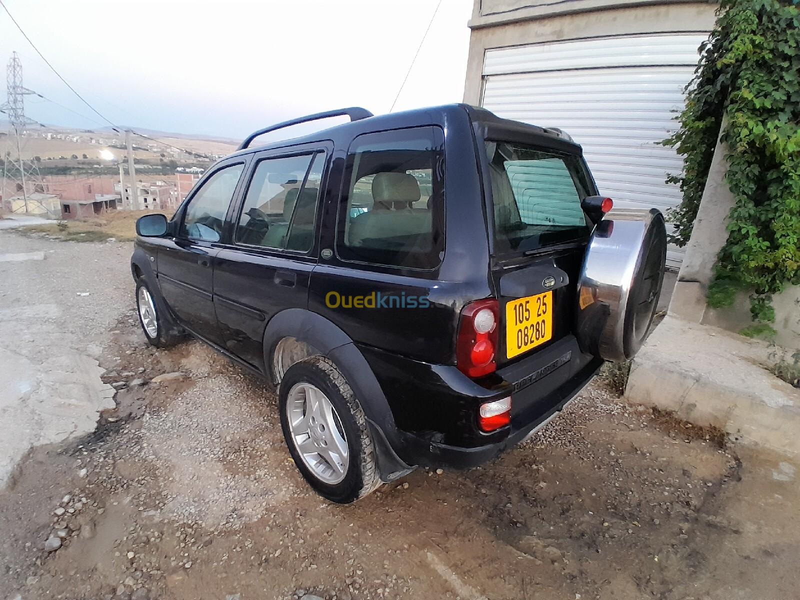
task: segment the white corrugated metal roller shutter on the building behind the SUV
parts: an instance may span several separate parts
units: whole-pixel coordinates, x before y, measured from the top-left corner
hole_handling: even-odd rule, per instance
[[[682,159],[661,146],[706,34],[549,42],[486,51],[482,106],[500,117],[561,127],[583,146],[602,194],[620,209],[681,201],[667,185]],[[668,262],[681,252],[670,247]]]

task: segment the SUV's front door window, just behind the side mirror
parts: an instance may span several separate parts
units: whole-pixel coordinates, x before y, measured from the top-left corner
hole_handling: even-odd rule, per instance
[[[243,169],[243,164],[226,166],[203,183],[186,206],[180,231],[182,237],[219,242],[225,214]]]

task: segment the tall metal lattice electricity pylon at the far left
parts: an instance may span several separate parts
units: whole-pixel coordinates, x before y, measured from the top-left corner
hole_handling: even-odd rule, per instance
[[[0,106],[0,111],[8,116],[11,129],[6,136],[6,149],[2,156],[4,160],[3,198],[6,198],[6,190],[11,190],[11,194],[14,195],[21,194],[27,213],[30,210],[30,202],[37,202],[34,198],[30,198],[30,191],[44,191],[44,186],[42,186],[42,174],[39,173],[36,162],[22,158],[22,134],[26,126],[36,123],[33,119],[25,116],[24,98],[26,95],[36,94],[36,92],[22,86],[22,62],[16,52],[11,53],[6,68],[6,88],[8,100]],[[46,209],[41,202],[37,203]]]

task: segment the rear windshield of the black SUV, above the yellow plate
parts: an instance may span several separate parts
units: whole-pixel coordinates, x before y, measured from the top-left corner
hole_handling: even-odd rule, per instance
[[[572,242],[590,233],[582,159],[515,142],[486,142],[497,254]]]

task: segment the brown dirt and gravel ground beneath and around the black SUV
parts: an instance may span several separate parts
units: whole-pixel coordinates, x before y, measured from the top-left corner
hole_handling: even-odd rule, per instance
[[[198,342],[146,346],[131,302],[98,356],[116,407],[0,491],[0,598],[798,597],[786,458],[598,382],[490,465],[334,506],[294,469],[272,391]]]

